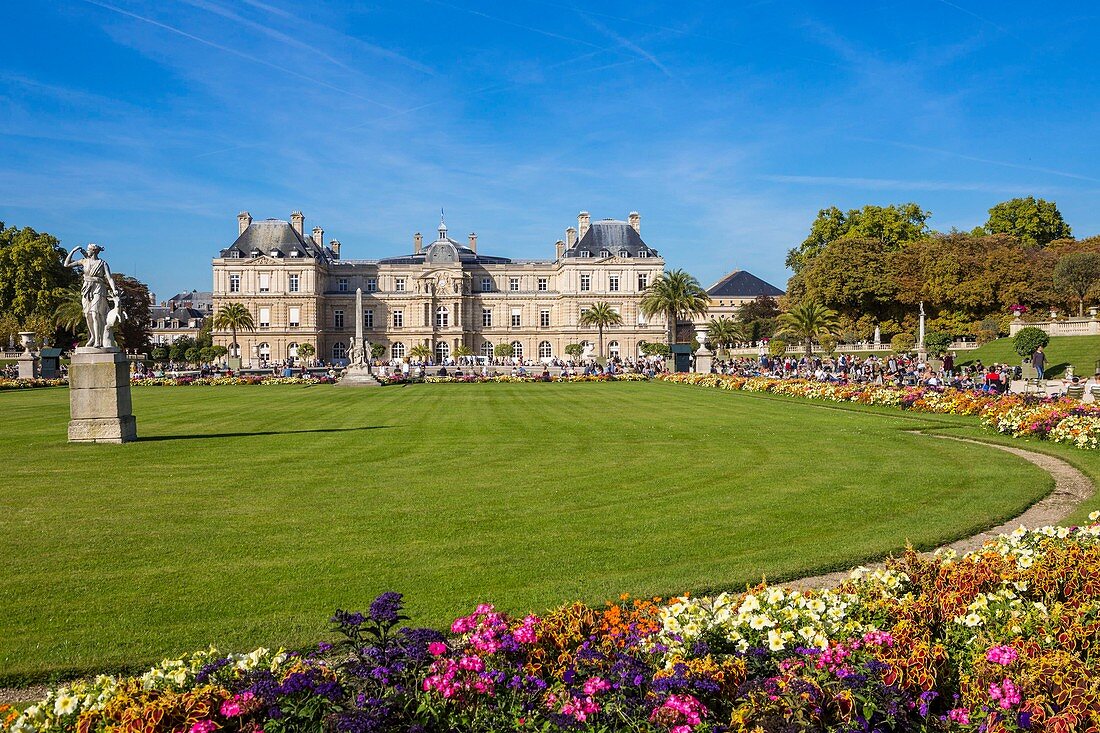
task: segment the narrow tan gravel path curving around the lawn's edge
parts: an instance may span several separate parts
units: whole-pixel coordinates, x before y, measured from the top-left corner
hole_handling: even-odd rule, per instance
[[[921,433],[920,430],[913,431]],[[930,438],[938,438],[941,440],[972,442],[978,446],[987,446],[989,448],[1003,450],[1008,453],[1012,453],[1013,456],[1020,456],[1026,461],[1031,461],[1054,477],[1054,491],[1050,492],[1050,494],[1045,499],[1042,499],[1033,504],[1020,516],[1005,522],[1000,526],[974,535],[972,537],[966,537],[965,539],[960,539],[945,546],[960,554],[977,549],[978,547],[981,547],[987,539],[992,539],[997,535],[1012,532],[1021,524],[1027,527],[1042,527],[1048,524],[1057,524],[1068,516],[1078,504],[1091,496],[1094,491],[1092,481],[1087,475],[1060,458],[1047,456],[1046,453],[1038,453],[1033,450],[1025,450],[1024,448],[1016,448],[1015,446],[1002,446],[993,442],[985,442],[982,440],[971,440],[969,438],[956,438],[954,436],[927,433],[921,433],[921,435],[925,435]],[[878,562],[868,567],[882,567],[882,564]],[[849,572],[850,571],[848,570],[828,572],[822,576],[801,578],[799,580],[781,584],[784,588],[800,589],[832,588],[847,580]],[[45,697],[47,689],[48,688],[45,685],[35,685],[33,687],[22,688],[0,688],[0,703],[40,700]]]

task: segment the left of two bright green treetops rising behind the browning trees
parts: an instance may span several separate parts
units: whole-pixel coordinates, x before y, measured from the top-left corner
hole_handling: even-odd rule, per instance
[[[865,206],[847,214],[835,206],[822,209],[810,226],[810,236],[787,253],[787,266],[800,273],[828,243],[843,239],[873,239],[898,250],[927,236],[932,211],[916,204]]]

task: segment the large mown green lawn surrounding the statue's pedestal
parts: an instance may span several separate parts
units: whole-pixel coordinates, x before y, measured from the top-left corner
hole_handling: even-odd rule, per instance
[[[0,394],[0,681],[215,643],[308,645],[336,608],[741,588],[932,547],[1049,491],[974,425],[663,383],[139,387],[142,440],[65,441]]]

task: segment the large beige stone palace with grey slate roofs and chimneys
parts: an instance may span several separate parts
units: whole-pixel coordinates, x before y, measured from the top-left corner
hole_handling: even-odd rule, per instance
[[[300,211],[280,219],[238,216],[238,237],[213,260],[213,306],[244,304],[255,331],[239,331],[240,355],[260,364],[297,359],[310,343],[317,358],[346,359],[355,332],[355,289],[363,289],[365,336],[402,359],[422,343],[440,361],[465,347],[492,355],[510,343],[527,360],[564,358],[569,343],[595,343],[596,330],[579,324],[593,303],[609,303],[623,325],[605,329],[607,355],[630,358],[641,341],[663,341],[663,318],[639,308],[664,260],[641,239],[640,217],[578,226],[554,243],[553,258],[517,260],[479,252],[477,236],[460,242],[440,220],[435,241],[418,232],[411,251],[380,260],[341,256],[341,243],[305,229]],[[215,343],[234,353],[227,330]]]

